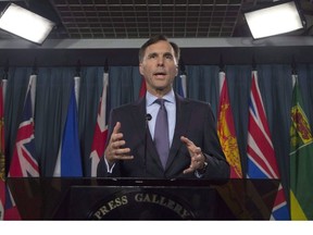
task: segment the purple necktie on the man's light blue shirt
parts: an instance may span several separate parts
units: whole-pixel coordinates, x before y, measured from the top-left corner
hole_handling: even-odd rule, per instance
[[[154,145],[158,150],[162,165],[165,169],[170,152],[167,112],[164,106],[164,99],[156,99],[155,102],[160,104],[160,109],[155,120]]]

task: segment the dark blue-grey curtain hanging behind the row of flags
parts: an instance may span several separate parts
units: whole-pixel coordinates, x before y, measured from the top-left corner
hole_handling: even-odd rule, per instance
[[[251,65],[225,66],[245,174],[251,71]],[[289,64],[258,64],[256,71],[283,184],[288,186],[291,66]],[[297,71],[304,100],[304,111],[312,128],[313,65],[298,64]],[[186,65],[188,97],[210,102],[215,115],[218,107],[218,72],[220,67],[216,65]],[[0,69],[0,73],[3,77],[5,73],[3,67]],[[4,110],[7,169],[32,73],[34,73],[33,67],[9,67],[8,71]],[[74,83],[77,67],[39,67],[36,73],[38,75],[35,107],[36,151],[41,175],[52,176],[66,118],[71,86]],[[82,66],[79,75],[79,139],[85,176],[88,176],[86,175],[89,172],[88,158],[102,91],[103,67]],[[109,77],[111,108],[138,98],[141,84],[138,66],[110,66]],[[174,84],[175,89],[177,81]]]

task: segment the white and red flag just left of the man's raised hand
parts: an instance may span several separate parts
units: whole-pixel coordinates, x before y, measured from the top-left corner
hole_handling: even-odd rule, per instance
[[[101,157],[105,150],[105,143],[108,138],[108,113],[110,112],[109,107],[109,94],[108,94],[108,86],[109,86],[109,73],[103,74],[103,89],[101,94],[101,98],[99,101],[98,108],[98,116],[97,116],[97,124],[93,134],[93,141],[91,146],[91,177],[97,176],[97,168],[100,162]]]

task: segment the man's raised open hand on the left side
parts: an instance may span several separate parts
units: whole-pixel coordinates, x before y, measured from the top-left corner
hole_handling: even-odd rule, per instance
[[[110,141],[104,151],[104,157],[110,165],[114,164],[116,160],[132,160],[134,156],[130,156],[130,148],[123,148],[126,141],[123,139],[123,133],[121,133],[121,123],[116,122]]]

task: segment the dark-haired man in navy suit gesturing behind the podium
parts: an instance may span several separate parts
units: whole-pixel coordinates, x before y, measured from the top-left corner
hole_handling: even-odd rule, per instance
[[[163,35],[150,38],[139,50],[139,70],[147,92],[134,103],[112,110],[104,158],[98,176],[153,178],[228,178],[209,103],[184,99],[173,90],[179,48]],[[156,137],[161,99],[165,106],[166,137]],[[167,132],[168,131],[168,132]],[[158,134],[159,135],[159,134]],[[155,144],[166,139],[161,160]],[[166,146],[166,144],[165,144]],[[162,162],[163,161],[163,162]]]

